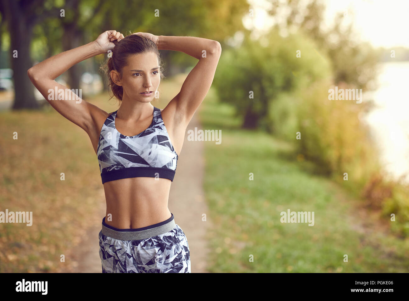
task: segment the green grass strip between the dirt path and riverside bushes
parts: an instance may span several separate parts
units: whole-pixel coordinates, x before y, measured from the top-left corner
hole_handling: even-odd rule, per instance
[[[207,97],[200,111],[203,129],[222,130],[221,144],[205,142],[205,195],[214,226],[209,272],[408,271],[409,240],[378,231],[388,221],[370,213],[362,219],[359,200],[308,173],[290,145],[241,130],[233,108],[214,99]],[[314,211],[315,225],[281,223],[287,209]]]

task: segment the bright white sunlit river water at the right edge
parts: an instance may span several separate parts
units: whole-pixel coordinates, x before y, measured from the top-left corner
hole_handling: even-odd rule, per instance
[[[387,177],[409,183],[409,61],[381,63],[379,88],[364,93],[376,107],[364,120],[380,150],[380,162]],[[365,95],[366,94],[366,95]]]

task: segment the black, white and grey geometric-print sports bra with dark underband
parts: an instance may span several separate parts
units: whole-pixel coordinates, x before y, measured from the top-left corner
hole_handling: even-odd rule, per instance
[[[178,154],[160,109],[153,107],[151,125],[131,137],[115,128],[117,111],[107,117],[99,135],[97,157],[102,184],[127,177],[160,177],[173,181]]]

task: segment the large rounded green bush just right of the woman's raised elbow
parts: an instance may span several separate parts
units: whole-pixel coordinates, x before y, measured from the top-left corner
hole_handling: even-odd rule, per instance
[[[243,128],[261,127],[274,133],[276,124],[269,112],[279,95],[304,89],[331,74],[328,58],[316,47],[301,34],[283,38],[273,30],[263,42],[246,35],[241,47],[223,51],[212,86],[222,101],[236,107]],[[251,92],[254,99],[249,98]]]

